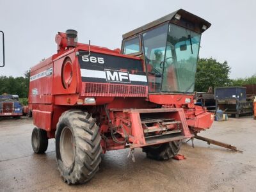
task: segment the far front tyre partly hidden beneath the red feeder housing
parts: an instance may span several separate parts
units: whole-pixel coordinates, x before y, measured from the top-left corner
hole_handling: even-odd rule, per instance
[[[162,161],[176,156],[180,150],[181,144],[182,141],[178,140],[159,145],[151,145],[143,147],[143,152],[145,152],[150,159]]]

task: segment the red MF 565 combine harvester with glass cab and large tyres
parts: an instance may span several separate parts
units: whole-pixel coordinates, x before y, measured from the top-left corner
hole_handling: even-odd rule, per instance
[[[63,180],[80,184],[108,150],[143,148],[147,157],[177,155],[181,141],[209,129],[214,115],[193,102],[201,34],[209,22],[184,10],[123,35],[122,50],[56,35],[58,52],[31,68],[35,153],[56,139]]]

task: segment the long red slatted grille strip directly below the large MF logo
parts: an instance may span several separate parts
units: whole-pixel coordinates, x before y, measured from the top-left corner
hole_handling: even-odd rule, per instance
[[[147,97],[147,86],[130,84],[83,83],[82,96]]]

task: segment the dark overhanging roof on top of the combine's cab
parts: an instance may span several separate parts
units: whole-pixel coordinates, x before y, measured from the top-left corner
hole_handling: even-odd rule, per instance
[[[180,15],[180,20],[175,19],[175,15]],[[129,38],[131,36],[137,35],[138,33],[141,33],[143,31],[146,31],[150,28],[153,28],[154,26],[158,26],[159,24],[163,24],[164,22],[172,22],[174,24],[182,26],[182,20],[186,20],[187,22],[191,22],[195,24],[196,28],[194,31],[197,33],[203,33],[205,30],[202,29],[202,26],[205,25],[208,28],[210,28],[211,23],[209,23],[207,20],[204,20],[196,15],[193,15],[192,13],[189,13],[185,10],[179,9],[176,12],[170,13],[164,17],[161,17],[160,19],[154,20],[148,24],[145,24],[144,26],[141,26],[140,28],[134,29],[128,33],[125,33],[123,35],[123,40],[126,38]]]

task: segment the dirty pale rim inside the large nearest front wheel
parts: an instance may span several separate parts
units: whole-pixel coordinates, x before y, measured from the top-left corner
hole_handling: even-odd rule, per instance
[[[64,127],[60,136],[60,156],[65,166],[70,167],[74,162],[74,136],[68,127]]]

